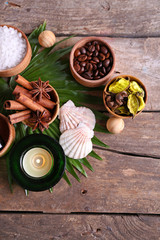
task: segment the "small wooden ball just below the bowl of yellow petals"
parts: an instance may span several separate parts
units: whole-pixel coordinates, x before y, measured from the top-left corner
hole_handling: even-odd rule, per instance
[[[108,119],[106,127],[111,133],[120,133],[124,128],[124,121],[121,118],[111,117]]]

